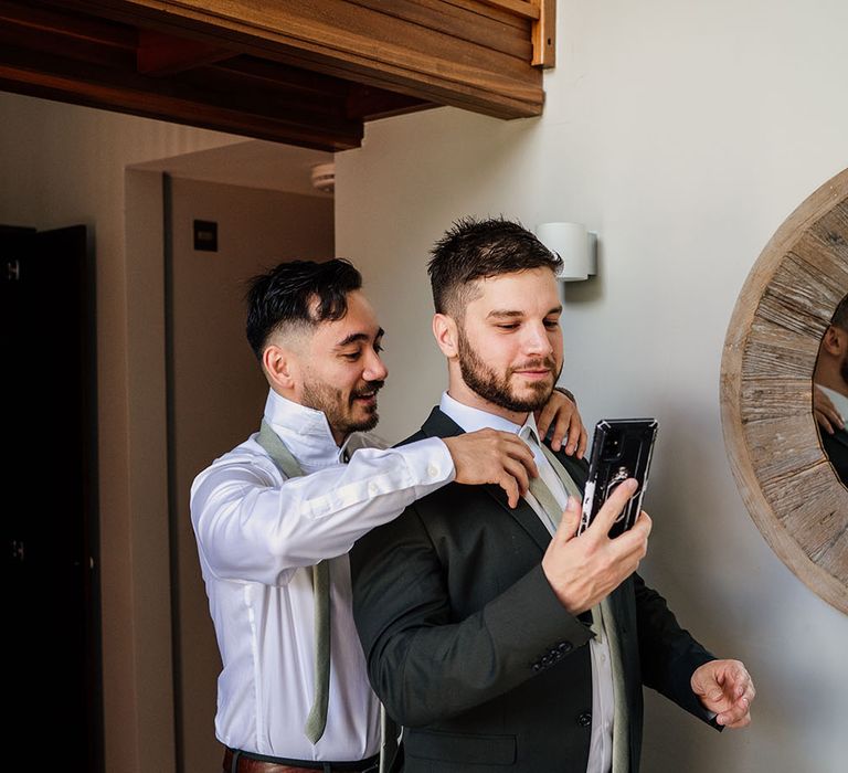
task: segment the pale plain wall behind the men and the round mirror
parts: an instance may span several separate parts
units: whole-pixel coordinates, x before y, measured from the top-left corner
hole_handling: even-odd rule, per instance
[[[337,252],[380,315],[381,434],[414,430],[445,368],[425,264],[464,214],[601,234],[600,276],[569,285],[563,382],[587,424],[656,415],[643,573],[759,688],[754,724],[719,735],[648,696],[643,770],[808,770],[848,755],[848,618],[772,553],[728,465],[719,369],[731,310],[770,235],[848,167],[848,4],[559,3],[540,119],[438,109],[368,127],[337,156]]]

